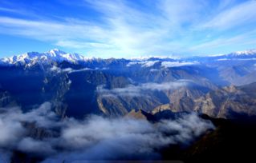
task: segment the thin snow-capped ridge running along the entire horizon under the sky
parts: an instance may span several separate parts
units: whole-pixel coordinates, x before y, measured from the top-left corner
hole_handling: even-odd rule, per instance
[[[229,58],[256,58],[256,50],[243,50],[237,51],[230,54],[217,54],[217,55],[205,55],[205,56],[193,56],[189,58],[177,58],[168,56],[149,56],[149,57],[138,57],[138,58],[94,58],[85,57],[82,54],[77,53],[66,53],[62,50],[53,49],[44,53],[39,52],[27,52],[25,54],[18,54],[11,57],[0,58],[2,65],[35,65],[35,62],[89,62],[89,61],[108,61],[112,59],[116,60],[127,60],[131,62],[148,62],[148,61],[171,61],[171,62],[185,62],[189,60],[198,60],[201,62],[201,58],[217,58],[218,60],[225,60]]]

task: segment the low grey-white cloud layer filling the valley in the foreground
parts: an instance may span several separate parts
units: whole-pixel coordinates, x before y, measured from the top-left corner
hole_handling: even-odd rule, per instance
[[[207,129],[214,128],[196,114],[154,124],[126,117],[109,119],[95,115],[83,121],[73,118],[59,121],[49,102],[28,113],[22,113],[19,108],[0,111],[0,156],[6,161],[14,149],[44,157],[44,162],[154,159],[161,157],[158,149],[172,144],[187,145]],[[28,127],[26,123],[36,127]],[[31,134],[31,130],[39,127],[51,136]]]

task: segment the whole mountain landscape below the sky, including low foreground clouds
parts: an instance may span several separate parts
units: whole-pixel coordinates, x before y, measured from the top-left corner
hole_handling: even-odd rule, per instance
[[[254,159],[256,50],[29,52],[0,59],[0,77],[0,162]]]

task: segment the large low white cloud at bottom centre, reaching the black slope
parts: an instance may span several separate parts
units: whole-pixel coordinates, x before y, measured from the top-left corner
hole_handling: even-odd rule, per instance
[[[66,143],[62,145],[65,149],[73,149],[72,152],[61,153],[44,162],[157,158],[160,157],[155,152],[157,149],[166,145],[189,144],[194,137],[213,128],[209,121],[202,121],[196,114],[156,124],[145,120],[93,116],[63,130],[63,142]],[[174,134],[166,137],[165,133]]]

